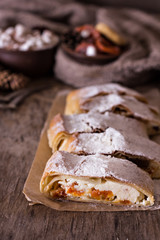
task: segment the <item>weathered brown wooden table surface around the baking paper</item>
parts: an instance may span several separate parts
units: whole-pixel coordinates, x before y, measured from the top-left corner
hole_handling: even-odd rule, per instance
[[[22,194],[53,88],[28,97],[17,110],[0,111],[0,239],[159,240],[160,211],[58,212],[29,206]]]

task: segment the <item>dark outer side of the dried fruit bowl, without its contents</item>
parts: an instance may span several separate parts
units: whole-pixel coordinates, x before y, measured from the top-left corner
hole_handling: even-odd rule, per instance
[[[109,54],[98,54],[94,57],[85,56],[84,54],[76,53],[74,50],[69,48],[67,44],[62,43],[61,48],[65,54],[74,60],[87,64],[87,65],[102,65],[114,61],[119,56],[109,55]]]

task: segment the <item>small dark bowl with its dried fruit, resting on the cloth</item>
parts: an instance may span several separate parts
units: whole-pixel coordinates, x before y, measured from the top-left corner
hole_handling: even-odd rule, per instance
[[[104,23],[76,27],[61,38],[65,54],[84,64],[106,64],[117,59],[128,41]]]

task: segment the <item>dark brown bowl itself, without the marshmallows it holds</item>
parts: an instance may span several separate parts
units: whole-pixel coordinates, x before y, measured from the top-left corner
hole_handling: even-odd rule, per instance
[[[54,56],[59,43],[56,36],[52,47],[41,50],[6,50],[0,49],[0,62],[14,71],[22,72],[28,76],[40,76],[48,73],[54,63]]]

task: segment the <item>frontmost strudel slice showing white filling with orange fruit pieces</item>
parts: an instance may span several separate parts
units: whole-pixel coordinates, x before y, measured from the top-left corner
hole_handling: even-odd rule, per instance
[[[154,204],[153,183],[146,172],[127,160],[103,155],[54,153],[46,164],[40,191],[51,199]]]

